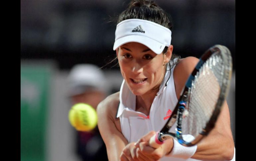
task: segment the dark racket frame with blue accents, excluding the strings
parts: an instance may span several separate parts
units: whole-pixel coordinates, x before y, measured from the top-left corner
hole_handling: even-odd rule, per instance
[[[200,67],[204,64],[204,62],[215,52],[220,52],[221,56],[223,57],[223,64],[225,65],[224,67],[224,80],[229,80],[227,82],[224,82],[223,85],[221,86],[220,90],[220,95],[219,99],[215,105],[215,109],[213,111],[212,116],[210,117],[209,121],[207,122],[205,128],[202,129],[202,131],[199,133],[199,135],[191,142],[187,142],[183,139],[182,137],[182,129],[181,129],[181,123],[183,119],[183,112],[186,109],[187,101],[188,101],[188,96],[189,95],[189,89],[192,86],[192,81],[195,79],[195,75],[200,69]],[[227,53],[227,54],[226,54]],[[222,105],[225,101],[225,98],[228,94],[229,91],[229,86],[230,86],[230,79],[232,75],[232,57],[230,54],[230,51],[228,48],[222,45],[214,45],[211,48],[209,48],[199,59],[199,62],[196,64],[195,68],[193,69],[191,75],[189,76],[185,87],[183,88],[181,92],[181,97],[178,100],[178,103],[171,114],[170,118],[164,125],[164,127],[157,132],[155,139],[158,140],[158,144],[162,144],[164,140],[169,139],[170,137],[177,138],[178,142],[184,146],[193,146],[196,143],[198,143],[204,136],[206,136],[215,126],[215,122],[218,119],[218,116],[220,114],[220,111],[222,109]],[[168,132],[171,127],[175,124],[176,120],[177,121],[177,128],[175,129],[175,133]]]

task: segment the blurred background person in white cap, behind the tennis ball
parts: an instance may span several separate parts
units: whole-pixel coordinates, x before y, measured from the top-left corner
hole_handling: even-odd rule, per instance
[[[108,94],[108,85],[103,71],[97,66],[77,64],[69,73],[68,91],[72,105],[86,103],[96,110]],[[83,161],[107,160],[106,147],[97,126],[90,132],[76,133],[76,153]]]

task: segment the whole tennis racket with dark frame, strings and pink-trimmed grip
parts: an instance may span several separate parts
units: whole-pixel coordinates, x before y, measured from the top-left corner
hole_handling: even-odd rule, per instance
[[[229,49],[222,45],[209,48],[189,76],[169,120],[151,137],[149,145],[158,148],[170,137],[184,146],[198,143],[215,126],[229,91],[231,74]],[[175,132],[169,132],[174,124]]]

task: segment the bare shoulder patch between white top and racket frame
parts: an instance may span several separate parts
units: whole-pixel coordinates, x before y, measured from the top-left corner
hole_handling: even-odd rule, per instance
[[[174,84],[176,90],[176,96],[179,99],[182,89],[189,77],[192,73],[195,65],[199,61],[196,57],[186,57],[181,59],[178,64],[175,66],[173,71]]]

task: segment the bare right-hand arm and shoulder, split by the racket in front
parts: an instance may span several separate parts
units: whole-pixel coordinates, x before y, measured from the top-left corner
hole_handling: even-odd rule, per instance
[[[198,59],[187,57],[182,59],[174,69],[176,94],[180,93]],[[182,72],[181,72],[182,71]],[[199,160],[231,160],[234,154],[234,141],[230,127],[230,115],[226,101],[218,117],[215,127],[197,144],[197,150],[192,156]]]

